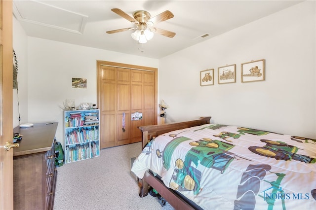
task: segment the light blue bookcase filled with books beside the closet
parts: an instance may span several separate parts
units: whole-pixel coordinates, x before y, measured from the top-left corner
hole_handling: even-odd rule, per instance
[[[65,110],[65,163],[100,155],[99,109]]]

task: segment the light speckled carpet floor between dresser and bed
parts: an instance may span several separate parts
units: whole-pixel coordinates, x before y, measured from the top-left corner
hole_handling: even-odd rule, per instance
[[[102,149],[100,156],[57,167],[54,210],[173,210],[156,197],[140,198],[130,174],[141,143]]]

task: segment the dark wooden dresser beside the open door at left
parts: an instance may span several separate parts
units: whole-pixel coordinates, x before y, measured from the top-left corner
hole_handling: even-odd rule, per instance
[[[23,135],[13,152],[13,195],[15,210],[52,210],[57,170],[55,134],[58,122],[38,123],[13,129]]]

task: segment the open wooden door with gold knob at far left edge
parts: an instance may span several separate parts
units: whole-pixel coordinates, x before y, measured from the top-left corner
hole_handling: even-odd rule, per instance
[[[0,210],[13,209],[12,57],[12,1],[0,0]]]

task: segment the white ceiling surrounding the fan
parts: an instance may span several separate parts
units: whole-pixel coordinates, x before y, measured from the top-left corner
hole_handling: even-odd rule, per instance
[[[28,36],[159,59],[299,2],[302,0],[13,0],[13,14]],[[112,8],[130,16],[146,10],[152,17],[170,10],[174,18],[155,26],[176,35],[155,34],[138,49],[131,31],[106,34],[134,27]],[[205,34],[209,36],[202,38]]]

